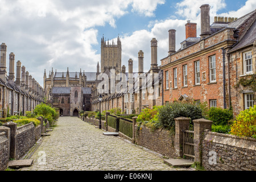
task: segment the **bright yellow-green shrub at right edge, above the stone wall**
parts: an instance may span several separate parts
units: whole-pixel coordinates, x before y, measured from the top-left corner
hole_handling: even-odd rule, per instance
[[[234,121],[230,134],[240,137],[255,137],[256,107],[250,107],[240,112]]]

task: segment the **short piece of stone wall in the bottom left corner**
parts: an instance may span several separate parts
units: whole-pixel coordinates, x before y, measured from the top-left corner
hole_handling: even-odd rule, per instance
[[[5,132],[0,132],[0,171],[5,170],[8,167],[9,153],[9,140]]]

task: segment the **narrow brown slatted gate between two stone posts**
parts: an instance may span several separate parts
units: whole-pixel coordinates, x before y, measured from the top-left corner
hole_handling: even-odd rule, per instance
[[[189,127],[188,130],[183,130],[183,155],[186,159],[194,161],[195,150],[194,150],[194,131],[193,126]]]

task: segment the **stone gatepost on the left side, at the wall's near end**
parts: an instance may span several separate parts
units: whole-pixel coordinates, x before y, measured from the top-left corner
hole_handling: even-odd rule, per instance
[[[7,122],[3,124],[5,127],[10,128],[10,158],[16,159],[16,130],[17,124],[14,122]]]

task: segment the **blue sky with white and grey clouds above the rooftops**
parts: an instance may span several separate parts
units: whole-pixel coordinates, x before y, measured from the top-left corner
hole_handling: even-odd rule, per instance
[[[44,69],[47,76],[51,68],[96,72],[103,35],[111,42],[119,35],[122,65],[127,67],[131,58],[134,71],[142,50],[148,71],[150,40],[158,40],[160,64],[168,55],[168,30],[177,31],[176,50],[185,39],[187,20],[197,23],[199,37],[203,4],[210,5],[210,23],[216,15],[240,18],[256,9],[255,0],[0,0],[0,43],[42,86]]]

